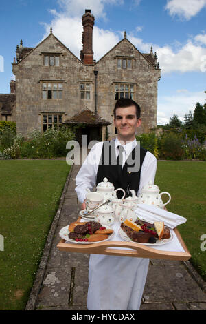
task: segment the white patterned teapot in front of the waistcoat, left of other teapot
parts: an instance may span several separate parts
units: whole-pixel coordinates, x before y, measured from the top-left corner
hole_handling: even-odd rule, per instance
[[[124,189],[118,188],[115,190],[115,187],[111,182],[108,182],[107,178],[104,178],[102,182],[98,183],[96,190],[100,192],[100,194],[104,194],[104,201],[106,201],[106,199],[111,199],[111,201],[117,199],[117,191],[119,190],[123,192],[122,199],[125,197]],[[112,205],[112,202],[109,203],[109,205]]]

